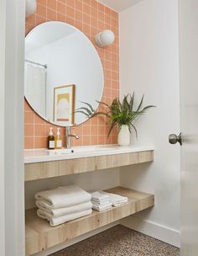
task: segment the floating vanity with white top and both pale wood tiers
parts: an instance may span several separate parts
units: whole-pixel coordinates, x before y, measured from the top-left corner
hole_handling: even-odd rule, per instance
[[[25,181],[47,179],[74,173],[87,173],[154,161],[154,148],[115,148],[98,152],[68,155],[48,155],[29,151],[25,157]],[[154,205],[154,195],[117,187],[107,192],[128,197],[128,203],[112,207],[107,211],[93,211],[75,221],[68,221],[58,227],[50,227],[48,221],[36,215],[36,209],[26,211],[26,256],[39,253],[60,243],[91,232],[99,227],[118,221]]]

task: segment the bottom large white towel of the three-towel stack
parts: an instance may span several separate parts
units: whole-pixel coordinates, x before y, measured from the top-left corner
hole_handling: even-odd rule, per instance
[[[79,211],[76,213],[71,213],[71,214],[68,214],[65,216],[50,218],[49,216],[46,215],[45,211],[42,211],[39,209],[39,210],[37,210],[37,215],[39,217],[41,217],[42,219],[46,219],[46,220],[50,221],[50,226],[55,227],[55,226],[65,223],[67,221],[73,221],[78,218],[81,218],[82,216],[90,215],[91,212],[92,212],[92,210],[90,209],[90,210],[86,210],[86,211]]]

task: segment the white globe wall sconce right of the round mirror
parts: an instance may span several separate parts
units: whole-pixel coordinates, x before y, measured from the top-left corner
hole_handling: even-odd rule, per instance
[[[112,30],[106,29],[95,35],[96,45],[99,47],[105,47],[112,45],[115,40],[115,35]]]

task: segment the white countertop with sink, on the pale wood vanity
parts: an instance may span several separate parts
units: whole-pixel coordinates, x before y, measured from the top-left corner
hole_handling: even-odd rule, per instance
[[[154,150],[153,146],[148,147],[119,147],[115,145],[71,147],[70,149],[27,149],[24,150],[24,163],[40,163],[75,159],[82,157],[108,156],[129,152],[143,152]],[[71,152],[73,151],[73,152]]]

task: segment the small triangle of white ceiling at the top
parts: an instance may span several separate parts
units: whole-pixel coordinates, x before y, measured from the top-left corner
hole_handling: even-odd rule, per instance
[[[98,2],[103,3],[119,13],[141,1],[143,0],[98,0]]]

